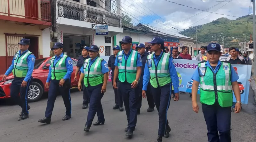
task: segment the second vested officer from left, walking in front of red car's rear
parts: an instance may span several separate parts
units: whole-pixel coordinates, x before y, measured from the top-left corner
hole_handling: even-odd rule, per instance
[[[52,47],[55,56],[50,60],[50,67],[45,87],[49,88],[48,101],[44,119],[39,119],[40,123],[51,123],[52,110],[57,95],[61,94],[66,107],[66,115],[63,121],[71,118],[71,73],[73,72],[72,61],[69,56],[63,53],[63,44],[56,42]],[[49,83],[51,81],[50,87]]]

